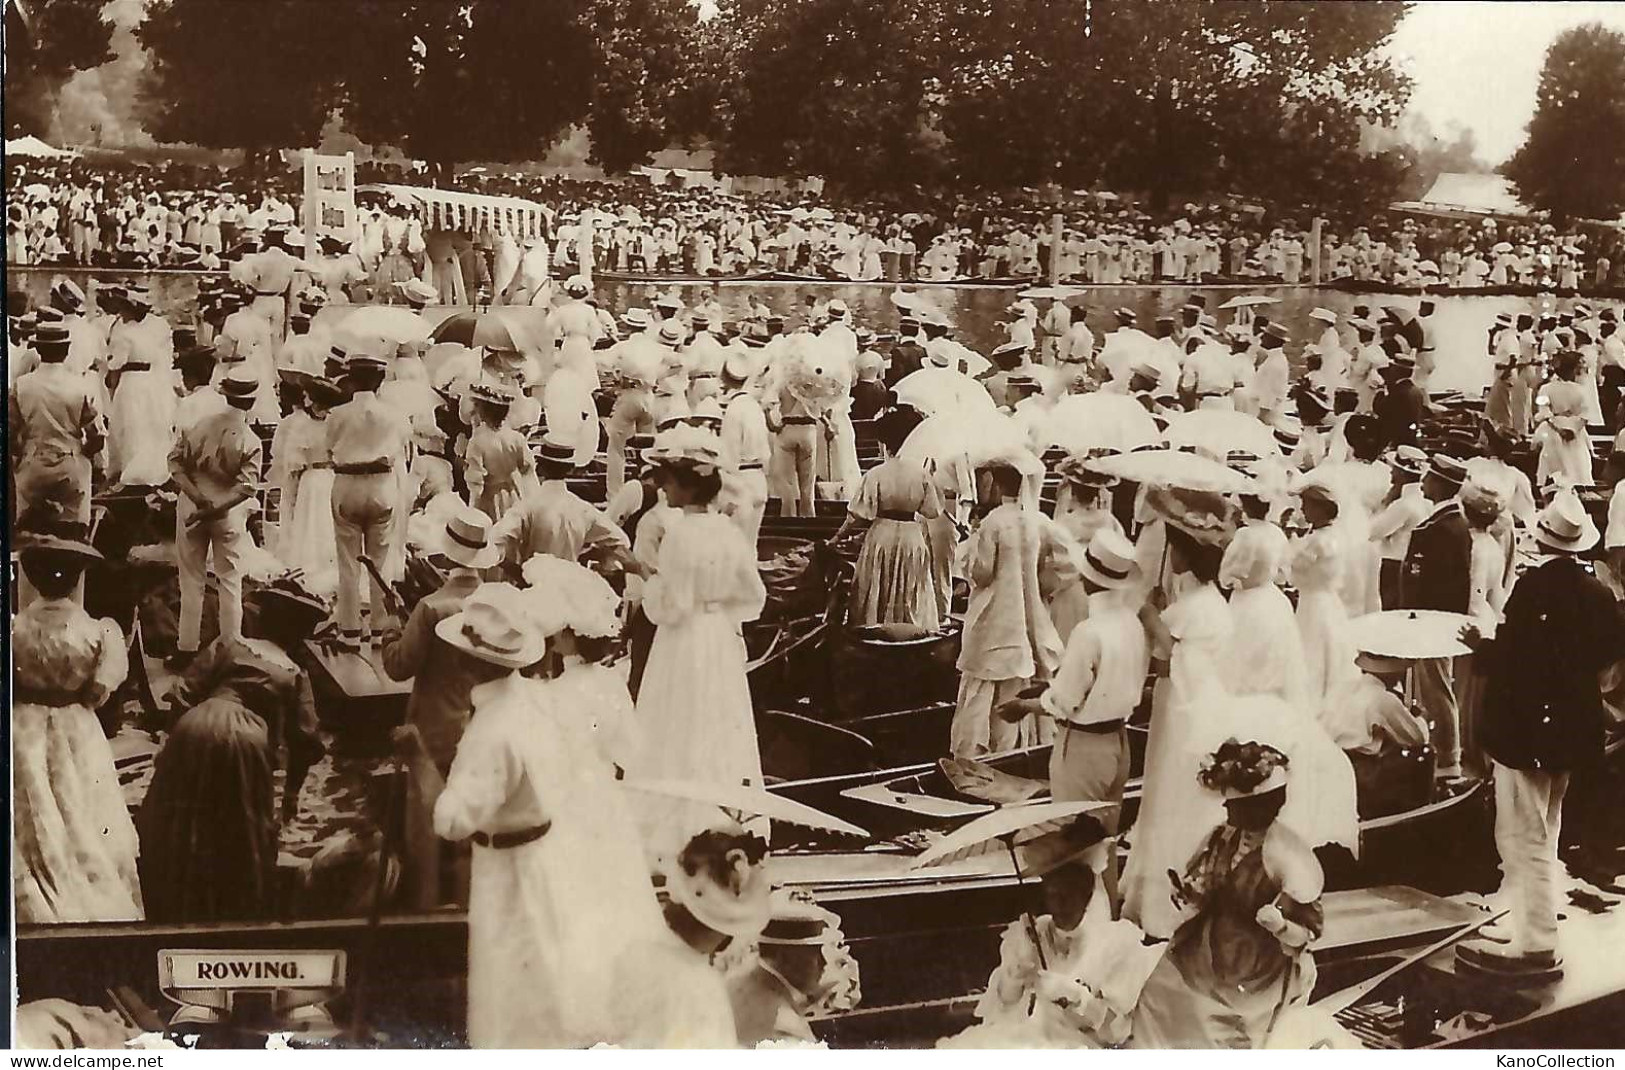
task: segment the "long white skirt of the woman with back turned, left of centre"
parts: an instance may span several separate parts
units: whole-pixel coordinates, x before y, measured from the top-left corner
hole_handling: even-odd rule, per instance
[[[762,782],[744,662],[744,639],[722,613],[697,613],[655,629],[637,693],[645,777]],[[681,849],[687,836],[704,829],[710,811],[660,800],[644,815],[645,842],[658,855]]]

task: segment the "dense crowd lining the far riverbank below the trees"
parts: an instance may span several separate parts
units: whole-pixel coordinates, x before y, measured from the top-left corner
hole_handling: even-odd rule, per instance
[[[6,171],[10,187],[20,190],[6,216],[6,262],[15,265],[213,270],[234,259],[240,237],[301,220],[289,174],[221,181],[205,167],[114,171],[36,161],[8,161]],[[1305,213],[1256,205],[1185,203],[1152,215],[1116,197],[842,202],[484,171],[458,177],[453,189],[522,197],[549,213],[540,239],[488,228],[458,242],[460,255],[473,247],[458,263],[463,289],[484,289],[497,302],[528,296],[510,288],[515,273],[535,273],[549,259],[561,276],[572,270],[700,278],[782,272],[947,281],[1048,276],[1058,260],[1061,278],[1090,285],[1300,285],[1316,278],[1316,257],[1323,283],[1399,288],[1571,293],[1609,289],[1625,276],[1617,233],[1568,228],[1560,234],[1542,223],[1393,216],[1328,224],[1316,249]],[[426,244],[421,208],[385,195],[362,200],[370,210],[346,252],[359,257],[369,276],[354,283],[366,281],[369,293],[388,298],[388,283],[398,280],[379,276],[387,252],[403,254],[419,278],[432,281],[426,263],[445,262],[448,254]],[[1063,216],[1058,254],[1056,211]],[[583,249],[587,233],[590,249]]]

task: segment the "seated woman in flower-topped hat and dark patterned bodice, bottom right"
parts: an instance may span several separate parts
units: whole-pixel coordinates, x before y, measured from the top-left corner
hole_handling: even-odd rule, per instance
[[[1263,1047],[1282,1011],[1308,1000],[1321,933],[1324,873],[1276,821],[1287,756],[1228,740],[1198,774],[1224,797],[1225,823],[1175,878],[1173,933],[1134,1011],[1134,1047]]]

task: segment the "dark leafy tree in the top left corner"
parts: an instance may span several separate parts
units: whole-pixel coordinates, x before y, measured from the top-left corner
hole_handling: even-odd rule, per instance
[[[75,72],[112,59],[106,0],[11,0],[5,5],[6,137],[46,135],[54,101]]]

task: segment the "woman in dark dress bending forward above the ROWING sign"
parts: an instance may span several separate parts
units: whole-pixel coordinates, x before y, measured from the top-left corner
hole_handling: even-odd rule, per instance
[[[151,920],[268,917],[281,821],[325,751],[310,676],[291,654],[327,605],[292,579],[262,587],[255,602],[260,637],[216,639],[169,693],[177,720],[136,815]],[[284,751],[278,818],[273,776]]]

